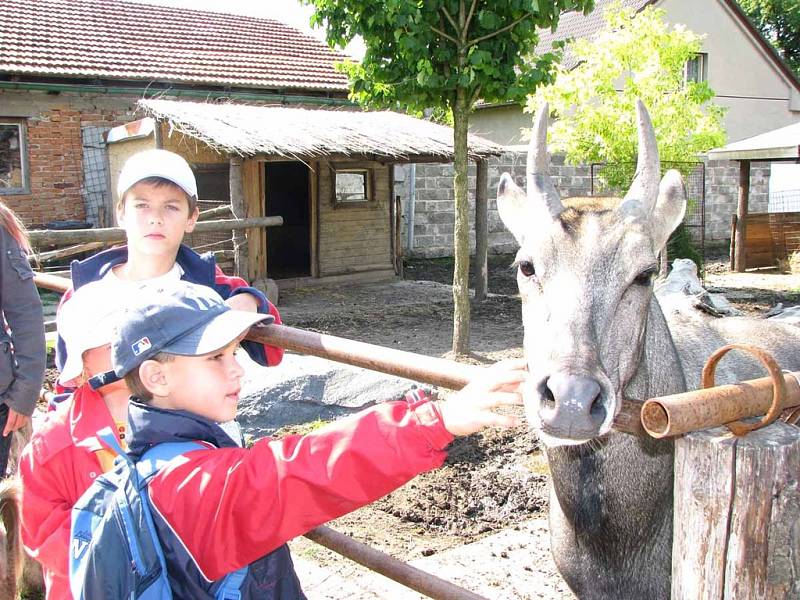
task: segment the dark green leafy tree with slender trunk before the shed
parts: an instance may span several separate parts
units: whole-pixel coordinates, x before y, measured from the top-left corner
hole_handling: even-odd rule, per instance
[[[360,64],[345,63],[351,97],[366,107],[453,115],[455,268],[453,352],[469,350],[469,218],[467,128],[475,101],[521,101],[549,81],[556,55],[533,57],[537,28],[555,27],[561,12],[591,9],[593,0],[303,0],[331,44],[356,35]]]

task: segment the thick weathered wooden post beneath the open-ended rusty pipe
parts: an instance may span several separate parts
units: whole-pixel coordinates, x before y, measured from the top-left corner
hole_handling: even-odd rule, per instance
[[[672,598],[800,598],[800,428],[675,442]]]

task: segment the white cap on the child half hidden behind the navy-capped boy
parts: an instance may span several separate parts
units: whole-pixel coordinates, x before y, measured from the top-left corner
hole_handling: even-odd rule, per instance
[[[61,385],[78,387],[83,373],[83,353],[111,343],[123,310],[113,290],[114,286],[102,279],[87,283],[58,310],[56,326],[67,348],[67,360],[58,376]]]

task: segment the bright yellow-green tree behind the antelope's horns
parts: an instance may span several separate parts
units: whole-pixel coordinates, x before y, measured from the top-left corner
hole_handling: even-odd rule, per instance
[[[637,98],[650,113],[662,162],[696,161],[698,153],[724,145],[723,109],[711,103],[713,90],[684,78],[701,37],[670,27],[653,7],[635,13],[616,4],[604,18],[600,35],[567,44],[578,66],[559,68],[555,81],[529,99],[528,110],[549,102],[558,115],[551,148],[571,163],[608,163],[603,178],[626,189],[637,152]]]

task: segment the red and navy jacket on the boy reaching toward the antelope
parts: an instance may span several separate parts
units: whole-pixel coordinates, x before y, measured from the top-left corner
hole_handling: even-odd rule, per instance
[[[453,440],[424,397],[250,449],[185,411],[134,402],[128,420],[133,455],[162,442],[213,446],[174,459],[149,484],[170,585],[181,598],[206,597],[209,580],[244,565],[270,571],[269,554],[282,544],[439,467]],[[263,597],[247,581],[242,589],[243,598]]]

